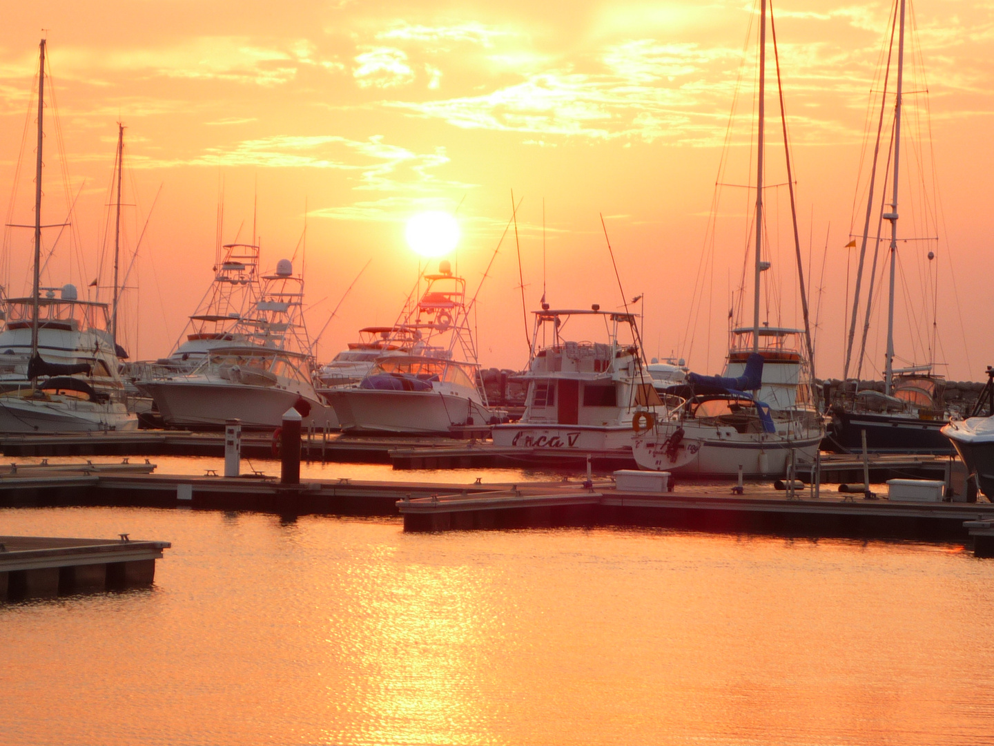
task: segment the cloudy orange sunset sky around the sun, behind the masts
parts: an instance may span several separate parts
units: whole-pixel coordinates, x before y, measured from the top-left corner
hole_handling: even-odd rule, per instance
[[[820,299],[822,376],[842,371],[843,247],[854,222],[868,95],[889,11],[882,2],[776,6],[801,243],[815,285],[830,231],[822,289],[812,293],[815,306]],[[727,344],[730,288],[743,271],[745,213],[753,199],[745,189],[722,192],[712,269],[697,292],[703,300],[697,320],[688,319],[702,251],[710,245],[708,216],[743,50],[751,55],[754,48],[746,44],[752,12],[745,2],[665,0],[11,4],[0,27],[0,195],[6,201],[15,183],[44,28],[67,171],[74,193],[83,188],[75,227],[84,266],[60,244],[46,281],[85,285],[96,274],[118,117],[127,125],[133,192],[126,196],[138,205],[128,211],[129,246],[162,188],[136,263],[140,292],[129,301],[129,346],[137,356],[169,351],[211,280],[223,179],[226,241],[243,222],[240,238],[250,235],[257,184],[265,268],[293,254],[307,205],[312,331],[373,260],[322,338],[322,360],[360,326],[395,319],[418,266],[404,242],[411,215],[461,203],[457,262],[472,287],[510,218],[513,189],[524,198],[519,234],[530,308],[543,287],[543,200],[549,300],[620,305],[602,213],[625,293],[645,293],[649,354],[672,350],[695,369],[716,372]],[[988,204],[994,2],[918,0],[913,17],[912,57],[923,61],[931,144],[921,146],[923,108],[912,105],[925,97],[911,94],[906,111],[916,113],[908,114],[914,125],[907,126],[918,139],[904,145],[909,181],[901,182],[899,225],[903,235],[916,226],[934,235],[919,220],[926,211],[915,207],[923,203],[914,202],[909,188],[922,181],[918,162],[931,183],[930,151],[942,207],[942,239],[931,245],[936,357],[949,364],[950,378],[978,379],[994,362],[987,259],[994,234]],[[922,90],[920,66],[909,69],[906,90]],[[723,177],[734,184],[749,173],[747,148],[736,143],[750,136],[754,64],[746,61],[742,70]],[[784,181],[775,103],[770,95],[766,161],[774,184]],[[66,212],[56,140],[50,133],[46,145],[45,220],[53,223]],[[26,152],[30,171],[30,143]],[[18,189],[13,222],[31,222],[31,185],[23,174]],[[778,301],[764,307],[773,322],[799,323],[787,194],[773,188],[766,199],[770,286]],[[24,287],[30,238],[30,231],[13,237],[12,292]],[[908,322],[911,315],[918,327],[927,325],[925,244],[900,250],[906,282],[898,300],[898,365],[927,357],[924,336]],[[108,281],[105,270],[101,281]],[[512,234],[481,293],[486,366],[525,363],[517,284]],[[870,367],[882,368],[883,341],[884,326],[875,321]]]

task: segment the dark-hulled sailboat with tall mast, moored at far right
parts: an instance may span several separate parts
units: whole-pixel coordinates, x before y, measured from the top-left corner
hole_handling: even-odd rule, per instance
[[[866,220],[862,237],[860,237],[862,243],[860,263],[856,278],[856,291],[853,299],[852,319],[849,328],[843,373],[843,379],[846,382],[843,385],[842,391],[837,392],[836,400],[831,407],[832,424],[829,428],[829,438],[826,441],[829,447],[838,451],[859,451],[864,447],[865,443],[868,451],[878,453],[950,454],[952,453],[952,448],[949,441],[940,433],[942,426],[949,419],[949,412],[946,410],[942,401],[945,378],[935,373],[935,366],[932,363],[910,365],[904,368],[894,367],[894,304],[898,264],[898,176],[901,168],[901,125],[904,106],[902,96],[905,83],[906,0],[898,0],[898,3],[898,12],[894,16],[894,21],[900,25],[900,30],[898,35],[898,81],[894,106],[894,170],[891,183],[893,191],[890,203],[885,204],[880,211],[876,238],[877,247],[879,248],[881,241],[880,228],[883,227],[884,221],[890,223],[890,286],[888,294],[884,391],[879,392],[874,389],[859,391],[856,388],[859,383],[859,372],[857,372],[856,384],[849,384],[846,379],[849,377],[856,335],[863,263],[866,256],[867,242],[871,238],[870,225],[875,196],[874,180],[877,170],[877,158],[880,153],[881,135],[884,131],[884,112],[887,105],[887,78],[884,80],[884,95],[881,96],[881,110],[873,166],[870,174]],[[888,76],[890,75],[890,60],[889,55]],[[928,261],[931,262],[933,259],[934,253],[929,253]],[[871,284],[864,316],[863,338],[857,371],[862,370],[863,357],[866,350],[867,332],[870,327],[870,315],[873,306],[873,281],[875,280],[876,267],[877,250],[875,249],[873,269],[870,271]]]

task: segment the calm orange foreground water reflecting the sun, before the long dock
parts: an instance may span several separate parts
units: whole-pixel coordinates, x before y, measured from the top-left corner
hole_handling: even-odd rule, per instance
[[[994,561],[664,530],[0,510],[166,539],[0,607],[4,744],[989,744]]]

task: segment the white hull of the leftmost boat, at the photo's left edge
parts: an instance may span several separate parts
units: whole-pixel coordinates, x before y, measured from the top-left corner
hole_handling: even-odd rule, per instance
[[[119,403],[97,404],[0,397],[0,433],[92,433],[137,430],[138,418]]]

